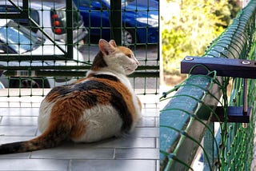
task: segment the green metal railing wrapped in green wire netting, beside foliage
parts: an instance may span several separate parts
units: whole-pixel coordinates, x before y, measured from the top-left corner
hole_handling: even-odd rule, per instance
[[[251,1],[210,44],[202,58],[254,61],[255,13],[256,2]],[[248,105],[252,111],[247,125],[225,120],[220,124],[211,122],[217,105],[224,111],[228,105],[242,106],[242,89],[246,86],[242,78],[222,78],[208,70],[206,75],[190,75],[182,84],[166,92],[162,100],[170,101],[160,113],[161,170],[193,169],[191,164],[198,149],[203,153],[204,170],[250,170],[254,147],[255,83],[254,79],[248,82]],[[232,85],[230,93],[229,84]],[[169,94],[176,90],[177,93],[170,97]],[[226,116],[226,112],[223,114]]]

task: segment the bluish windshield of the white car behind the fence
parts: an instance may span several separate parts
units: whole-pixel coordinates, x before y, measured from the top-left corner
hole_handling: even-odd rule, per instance
[[[0,28],[0,39],[18,54],[34,50],[42,44],[42,39],[34,32],[12,21]]]

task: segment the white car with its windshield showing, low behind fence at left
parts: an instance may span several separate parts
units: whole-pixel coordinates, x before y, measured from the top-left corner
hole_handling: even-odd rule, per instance
[[[37,34],[34,34],[31,30],[28,30],[26,27],[18,25],[18,23],[10,19],[0,19],[0,66],[75,66],[77,62],[72,60],[65,62],[63,61],[10,61],[5,62],[1,60],[2,57],[8,57],[10,54],[18,54],[19,57],[22,55],[29,55],[33,59],[33,55],[63,55],[62,50],[66,50],[66,46],[62,42],[50,42],[47,38],[38,37]],[[57,44],[62,44],[56,46]],[[61,50],[62,49],[62,50]],[[82,54],[74,48],[74,59],[80,62],[83,61]],[[61,72],[61,71],[60,71]],[[29,71],[19,71],[19,74],[29,74]],[[34,77],[12,77],[7,78],[4,75],[4,70],[0,70],[0,82],[6,88],[18,88],[18,87],[34,87],[34,88],[51,88],[57,85],[63,85],[74,80],[68,79],[69,82],[66,82],[66,78],[58,77],[48,77],[48,78],[37,78]]]

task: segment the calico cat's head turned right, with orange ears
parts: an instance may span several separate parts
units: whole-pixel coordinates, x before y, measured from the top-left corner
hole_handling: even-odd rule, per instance
[[[114,40],[98,42],[100,53],[94,58],[91,70],[113,70],[120,74],[132,74],[138,67],[138,60],[127,47],[117,46]]]

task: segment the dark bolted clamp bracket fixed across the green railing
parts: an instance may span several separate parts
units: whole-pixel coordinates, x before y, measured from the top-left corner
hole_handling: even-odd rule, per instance
[[[218,76],[244,78],[243,106],[229,106],[226,121],[249,123],[251,107],[247,105],[247,78],[256,78],[256,62],[245,59],[202,58],[191,56],[184,58],[181,62],[182,74],[208,74],[208,70],[216,70]],[[211,121],[225,121],[224,109],[222,107],[218,106],[217,109],[215,109],[215,113],[218,117],[213,115]]]

